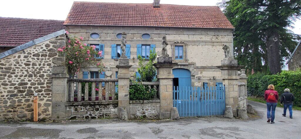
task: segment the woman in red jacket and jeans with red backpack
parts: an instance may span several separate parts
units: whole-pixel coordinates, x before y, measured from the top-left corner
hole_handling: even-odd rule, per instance
[[[271,122],[271,124],[274,124],[275,110],[278,100],[278,92],[275,91],[274,85],[268,85],[268,90],[265,90],[264,93],[264,99],[266,100],[266,106],[268,107],[267,122]]]

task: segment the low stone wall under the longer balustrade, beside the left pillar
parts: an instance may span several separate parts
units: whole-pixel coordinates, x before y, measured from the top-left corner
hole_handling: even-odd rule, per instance
[[[118,101],[66,103],[66,119],[117,118]]]

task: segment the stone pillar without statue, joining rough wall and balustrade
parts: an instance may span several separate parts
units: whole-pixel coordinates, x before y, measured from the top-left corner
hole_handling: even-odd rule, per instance
[[[71,110],[66,110],[66,106],[65,106],[68,100],[67,80],[69,78],[66,67],[53,66],[51,77],[52,77],[51,119],[66,120],[66,117],[71,116]]]

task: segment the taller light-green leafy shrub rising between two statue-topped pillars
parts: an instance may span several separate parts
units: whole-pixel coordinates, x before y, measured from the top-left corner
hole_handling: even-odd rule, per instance
[[[157,69],[153,66],[153,63],[157,57],[155,48],[154,50],[150,51],[150,57],[149,61],[145,63],[145,58],[142,58],[141,55],[138,55],[138,73],[140,74],[140,77],[136,77],[136,81],[138,82],[154,82],[156,81],[156,76]]]

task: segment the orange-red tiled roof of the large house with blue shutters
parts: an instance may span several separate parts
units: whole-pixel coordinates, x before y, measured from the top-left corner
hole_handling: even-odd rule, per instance
[[[74,2],[64,25],[233,29],[217,6]]]

